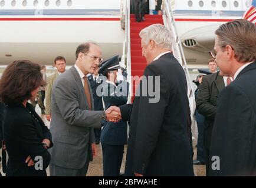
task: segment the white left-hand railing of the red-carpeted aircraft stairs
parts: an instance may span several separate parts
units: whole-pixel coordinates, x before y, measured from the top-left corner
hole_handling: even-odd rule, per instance
[[[127,103],[132,103],[132,68],[131,68],[131,49],[130,49],[130,0],[125,0],[125,39],[123,45],[123,56],[126,64],[127,82],[129,82],[129,96]]]

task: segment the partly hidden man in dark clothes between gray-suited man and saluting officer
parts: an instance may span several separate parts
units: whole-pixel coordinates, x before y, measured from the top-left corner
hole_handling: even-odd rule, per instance
[[[88,76],[88,80],[91,85],[91,89],[93,90],[93,101],[94,101],[94,110],[104,110],[102,105],[102,97],[97,95],[97,88],[101,83],[103,82],[103,76],[98,73],[99,68],[95,70],[93,74]],[[100,143],[100,129],[94,129],[95,133],[95,139],[96,139],[96,145],[99,145]]]

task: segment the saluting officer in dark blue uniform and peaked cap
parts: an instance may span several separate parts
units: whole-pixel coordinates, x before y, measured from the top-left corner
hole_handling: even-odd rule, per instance
[[[121,69],[117,55],[105,61],[99,70],[99,73],[107,78],[102,83],[105,110],[113,105],[120,106],[127,103],[129,85],[123,79]],[[116,82],[119,84],[117,85]],[[124,145],[127,144],[127,122],[104,123],[100,142],[103,152],[103,175],[119,176]]]

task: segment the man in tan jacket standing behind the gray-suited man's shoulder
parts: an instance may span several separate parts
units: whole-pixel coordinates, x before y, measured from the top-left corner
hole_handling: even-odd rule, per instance
[[[51,121],[51,89],[53,83],[58,78],[58,76],[61,75],[61,73],[65,72],[65,58],[63,56],[57,56],[57,58],[54,59],[54,66],[57,68],[57,72],[55,72],[54,75],[48,77],[45,90],[45,113],[46,119],[49,122]]]

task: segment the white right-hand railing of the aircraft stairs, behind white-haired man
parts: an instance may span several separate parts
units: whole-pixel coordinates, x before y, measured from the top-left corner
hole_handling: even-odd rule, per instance
[[[163,23],[172,34],[173,55],[175,56],[176,59],[178,59],[183,69],[185,69],[186,79],[188,82],[189,106],[191,108],[192,133],[193,133],[193,136],[195,136],[195,118],[194,118],[195,93],[193,92],[192,81],[189,76],[189,70],[188,70],[188,65],[186,63],[183,46],[182,46],[182,43],[180,42],[180,38],[176,29],[175,18],[173,16],[171,1],[172,3],[174,3],[174,0],[163,0]]]

